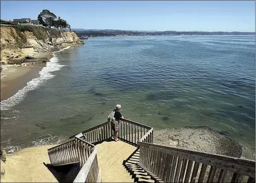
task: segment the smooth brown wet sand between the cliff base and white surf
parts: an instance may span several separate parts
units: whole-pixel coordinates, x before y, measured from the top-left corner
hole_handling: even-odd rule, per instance
[[[33,78],[40,77],[39,72],[45,63],[32,66],[11,67],[1,73],[1,101],[13,96]]]

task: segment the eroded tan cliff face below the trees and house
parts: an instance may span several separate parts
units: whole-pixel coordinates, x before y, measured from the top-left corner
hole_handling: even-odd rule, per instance
[[[1,63],[25,62],[34,53],[58,51],[69,45],[84,44],[75,32],[42,27],[1,26]]]

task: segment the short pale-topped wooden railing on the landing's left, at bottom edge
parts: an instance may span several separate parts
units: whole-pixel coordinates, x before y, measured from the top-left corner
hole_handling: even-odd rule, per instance
[[[99,182],[99,164],[96,147],[73,182]]]

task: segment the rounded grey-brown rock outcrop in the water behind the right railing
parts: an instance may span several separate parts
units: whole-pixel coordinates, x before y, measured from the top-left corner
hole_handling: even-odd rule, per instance
[[[241,157],[242,146],[207,126],[175,127],[154,132],[154,144]]]

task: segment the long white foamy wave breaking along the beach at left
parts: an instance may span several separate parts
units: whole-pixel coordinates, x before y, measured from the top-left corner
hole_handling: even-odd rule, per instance
[[[70,48],[70,46],[63,48],[59,51],[66,50],[68,48]],[[59,51],[56,51],[56,52],[59,52]],[[17,103],[20,103],[24,99],[24,97],[26,96],[26,93],[28,93],[28,91],[37,89],[42,83],[46,82],[50,78],[53,78],[54,75],[50,74],[50,72],[58,71],[59,69],[61,69],[64,66],[64,65],[59,65],[58,60],[59,59],[54,52],[53,57],[50,59],[50,62],[47,62],[46,66],[43,69],[41,69],[41,71],[39,72],[40,77],[34,78],[31,81],[29,81],[28,83],[26,83],[27,86],[25,86],[25,87],[23,87],[23,89],[20,89],[19,91],[17,91],[16,94],[11,96],[7,100],[2,100],[1,110],[3,110],[3,111],[8,110],[11,107],[13,107],[14,105],[16,105]]]

